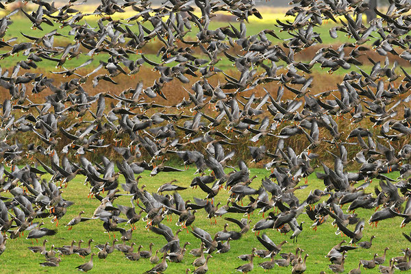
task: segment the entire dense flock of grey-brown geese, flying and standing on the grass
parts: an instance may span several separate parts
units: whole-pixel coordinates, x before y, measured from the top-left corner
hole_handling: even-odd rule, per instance
[[[0,8],[5,9],[10,2],[0,3]],[[332,222],[336,234],[351,239],[351,245],[343,245],[343,240],[326,255],[329,270],[342,273],[346,254],[353,249],[369,249],[375,238],[364,241],[367,220],[358,218],[354,213],[357,208],[369,210],[368,223],[375,227],[390,218],[403,219],[401,227],[411,221],[411,75],[397,62],[411,61],[408,1],[390,0],[386,12],[375,10],[379,16],[365,25],[362,14],[369,7],[362,0],[294,0],[286,13],[290,20],[276,24],[277,29],[289,34],[285,40],[279,39],[273,29],[247,35],[245,22],[249,17],[262,18],[253,0],[168,0],[158,8],[145,0],[101,0],[90,14],[79,12],[76,6],[84,2],[75,0],[60,7],[42,0],[29,2],[36,6],[32,12],[23,6],[0,19],[0,38],[6,37],[13,27],[12,17],[18,13],[29,19],[33,29],[42,31],[45,25],[56,29],[42,36],[23,34],[28,42],[16,38],[0,41],[1,60],[18,53],[27,57],[11,71],[0,71],[3,96],[8,97],[1,105],[0,116],[0,192],[8,192],[0,197],[0,254],[8,240],[24,234],[27,239],[38,240],[58,233],[36,221],[52,218],[58,223],[70,210],[73,202],[64,199],[63,189],[70,187],[77,175],[90,186],[84,197],[94,197],[101,203],[88,218],[79,212],[66,224],[68,229],[100,220],[101,231],[120,233],[123,242],[116,243],[115,238],[111,245],[97,245],[100,251],[95,254],[92,239],[88,247],[81,247],[82,241],[77,246],[73,240],[64,247],[52,245],[51,250],[46,249],[46,239],[41,246],[29,248],[45,256],[42,266],[58,266],[64,256],[76,253],[90,256],[89,262],[77,266],[80,271],[90,271],[93,256],[105,259],[117,249],[129,260],[148,259],[155,266],[146,273],[162,273],[168,262],[184,259],[188,242],[180,243],[178,235],[187,230],[199,240],[199,248],[189,251],[197,256],[193,272],[203,274],[214,256],[230,251],[230,241],[241,241],[251,230],[258,234],[264,249],[253,248],[251,253],[239,256],[247,263],[236,271],[249,273],[255,267],[253,258],[260,256],[269,259],[258,264],[264,270],[289,266],[292,273],[307,269],[312,273],[306,251],[297,247],[295,253],[281,253],[282,245],[288,242],[275,244],[273,236],[264,233],[266,229],[289,232],[290,239],[298,242],[303,234],[303,222],[298,219],[306,213],[314,229]],[[135,15],[112,18],[125,9],[134,10]],[[210,29],[216,12],[229,12],[240,21],[240,27],[229,24]],[[84,20],[91,15],[99,16],[95,27]],[[310,62],[295,60],[295,53],[321,44],[316,29],[325,21],[334,21],[329,29],[332,38],[346,35],[350,39],[338,48],[321,47]],[[54,45],[55,38],[65,36],[58,27],[69,29],[66,37],[73,43]],[[161,45],[159,62],[142,53],[155,39]],[[385,62],[369,58],[371,71],[367,72],[359,58],[370,51],[384,56]],[[90,73],[79,74],[98,53],[105,54],[107,60]],[[84,64],[66,69],[69,60],[84,55],[89,58]],[[223,59],[232,63],[235,71],[219,69]],[[67,77],[66,82],[57,84],[51,75],[36,73],[42,60],[55,62],[58,71],[53,73]],[[101,89],[101,82],[117,84],[117,75],[138,77],[141,66],[151,66],[160,74],[151,86],[138,81],[116,94],[105,90],[96,95],[84,88],[83,84],[90,81],[93,88]],[[329,73],[353,66],[356,69],[346,73],[335,90],[319,92],[319,87],[313,90],[310,76],[318,66],[329,69]],[[191,84],[188,90],[175,90],[188,99],[175,105],[155,103],[158,97],[167,102],[163,88],[173,81]],[[276,90],[265,88],[271,82],[278,84]],[[250,92],[258,88],[260,95]],[[44,90],[49,93],[41,97],[41,102],[31,101]],[[284,90],[295,98],[284,99]],[[247,91],[249,97],[243,93]],[[342,132],[338,119],[356,128]],[[360,123],[373,124],[373,128]],[[35,142],[22,143],[26,138]],[[264,139],[270,141],[256,145]],[[293,140],[302,139],[308,141],[308,147],[291,147]],[[235,163],[232,159],[238,142],[247,142],[249,153]],[[334,158],[334,166],[327,166],[324,156],[316,153],[325,145],[332,150],[328,153]],[[143,171],[151,176],[184,171],[166,165],[169,158],[196,166],[190,187],[201,188],[203,197],[184,201],[180,193],[188,184],[169,182],[153,193],[139,184]],[[300,200],[295,191],[308,186],[304,182],[316,168],[312,161],[322,166],[323,171],[317,169],[316,176],[325,189],[312,189]],[[259,188],[250,186],[256,179],[249,176],[250,162],[263,162],[268,171]],[[358,172],[347,171],[351,162],[360,164]],[[392,179],[388,173],[395,171],[399,171],[399,177]],[[119,186],[120,178],[125,184]],[[375,193],[369,192],[369,186]],[[221,192],[228,192],[229,199],[219,207],[214,198]],[[124,195],[130,198],[132,207],[114,203]],[[341,209],[346,204],[349,214]],[[221,232],[211,235],[196,225],[195,212],[199,210],[206,211],[211,223],[227,213],[238,216],[225,218],[238,229],[229,231],[225,224]],[[249,216],[253,212],[262,213],[262,219],[251,227]],[[163,222],[173,214],[178,218],[177,230]],[[153,245],[148,251],[142,251],[141,246],[135,250],[135,243],[129,241],[140,220],[147,222],[146,228],[153,234],[164,236],[164,247],[155,252]],[[132,228],[124,228],[127,225]],[[411,241],[411,235],[403,236]],[[361,273],[361,266],[378,266],[381,273],[411,269],[409,248],[403,250],[403,256],[386,260],[387,250],[382,251],[383,256],[375,253],[372,260],[360,260],[358,268],[349,273]],[[61,255],[56,256],[58,253]],[[383,266],[385,262],[389,266]]]

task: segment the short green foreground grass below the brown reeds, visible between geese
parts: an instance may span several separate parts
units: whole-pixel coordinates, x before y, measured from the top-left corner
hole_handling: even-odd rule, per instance
[[[140,185],[146,184],[147,190],[149,192],[155,192],[160,185],[164,184],[165,182],[171,181],[171,179],[178,179],[178,184],[181,186],[189,186],[191,179],[194,176],[192,175],[194,171],[194,169],[189,169],[188,171],[182,173],[160,173],[160,175],[157,175],[155,177],[149,177],[149,173],[145,172],[143,173],[142,179],[140,179]],[[258,176],[258,178],[256,178],[251,184],[253,188],[258,188],[258,186],[260,186],[261,184],[261,179],[264,176],[268,176],[269,171],[266,171],[265,169],[251,169],[251,175]],[[396,177],[397,174],[393,173],[391,174],[391,176]],[[121,177],[121,179],[123,179],[123,177]],[[83,182],[84,178],[77,176],[73,181],[69,182],[69,186],[64,189],[64,193],[62,194],[64,199],[74,201],[75,204],[71,206],[67,210],[66,215],[63,216],[62,219],[60,219],[58,234],[47,238],[49,240],[49,243],[47,243],[47,249],[51,247],[51,244],[54,244],[56,247],[69,245],[71,240],[73,239],[77,241],[82,239],[87,242],[89,238],[93,238],[95,240],[93,244],[103,244],[105,241],[109,240],[108,235],[103,233],[103,225],[99,220],[80,223],[79,225],[73,227],[71,231],[67,230],[67,228],[64,227],[64,224],[68,223],[74,216],[78,214],[80,210],[84,210],[86,212],[84,216],[91,216],[95,208],[99,206],[99,201],[97,199],[87,198],[89,188],[88,186],[84,186]],[[303,184],[303,182],[301,182],[301,184]],[[371,186],[367,188],[367,190],[369,192],[372,192],[373,187],[377,184],[378,182],[377,180],[375,180],[371,184]],[[297,190],[295,192],[295,195],[299,197],[300,201],[303,201],[304,197],[307,197],[310,190],[313,190],[315,188],[324,188],[323,182],[316,179],[314,175],[308,177],[308,185],[308,188],[304,190]],[[204,192],[199,190],[199,188],[194,190],[188,188],[187,190],[180,191],[180,194],[185,200],[192,199],[193,197],[205,197]],[[225,190],[221,190],[219,195],[216,196],[216,202],[225,203],[225,201],[227,201],[227,197],[227,192]],[[247,203],[247,198],[244,199],[244,202]],[[118,203],[129,206],[129,197],[121,197],[114,201],[114,205]],[[344,206],[343,210],[346,209],[347,206]],[[365,221],[368,221],[369,216],[373,214],[373,210],[357,210],[356,213],[358,213],[360,217],[364,218]],[[210,221],[206,219],[206,214],[203,210],[197,212],[196,216],[197,219],[195,221],[195,226],[205,229],[212,235],[223,229],[223,225],[225,223],[223,219],[218,218],[216,225],[210,225]],[[232,216],[237,219],[241,218],[241,214],[226,214],[225,216]],[[256,212],[251,215],[251,218],[253,219],[253,223],[251,223],[253,225],[258,220],[262,219],[262,216],[258,215]],[[306,222],[305,226],[303,227],[303,232],[299,237],[298,243],[292,243],[292,241],[290,241],[290,234],[284,236],[280,235],[279,232],[273,230],[266,230],[265,232],[276,243],[279,243],[282,240],[290,241],[288,245],[284,245],[282,249],[283,252],[294,252],[296,247],[301,247],[307,253],[309,253],[310,257],[307,261],[307,273],[319,273],[320,271],[331,273],[330,271],[327,271],[327,264],[329,264],[329,262],[327,262],[327,259],[324,258],[324,256],[325,254],[327,254],[329,249],[331,249],[342,239],[341,236],[336,236],[334,234],[336,228],[332,227],[331,225],[332,219],[329,219],[326,223],[319,226],[316,232],[310,229],[312,221],[308,219],[308,216],[306,214],[301,214],[297,220],[299,222]],[[175,232],[177,230],[175,221],[176,216],[173,215],[172,222],[164,220],[163,223],[169,225],[169,227],[173,229],[173,232]],[[45,223],[45,227],[54,227],[54,225],[50,223],[49,219],[45,219]],[[354,251],[349,251],[345,264],[345,269],[347,270],[346,273],[350,269],[358,266],[358,260],[369,260],[372,258],[373,253],[379,253],[380,255],[384,251],[384,247],[387,246],[390,247],[390,250],[387,253],[388,258],[399,256],[400,249],[407,247],[409,244],[409,242],[407,242],[401,235],[401,232],[408,232],[408,229],[399,229],[400,223],[401,219],[396,218],[380,222],[377,228],[372,228],[371,226],[366,225],[366,228],[364,229],[363,240],[369,240],[371,235],[375,235],[377,236],[377,238],[375,238],[373,247],[371,247],[371,249],[356,249]],[[125,227],[126,229],[129,228],[125,224],[122,224],[121,226]],[[160,249],[162,245],[166,243],[166,240],[164,240],[162,236],[158,236],[153,232],[147,232],[147,230],[145,230],[144,228],[144,222],[139,221],[138,223],[136,223],[136,226],[137,230],[133,234],[132,241],[136,242],[137,245],[143,245],[145,247],[144,249],[148,248],[150,242],[155,243],[153,247],[154,250]],[[238,230],[238,227],[234,224],[230,224],[229,229]],[[353,229],[353,227],[351,227],[351,229]],[[31,240],[26,240],[25,236],[18,238],[17,240],[8,240],[7,249],[0,256],[0,261],[2,262],[3,266],[3,272],[16,273],[18,271],[18,273],[54,273],[56,269],[47,269],[38,264],[39,262],[43,261],[43,258],[40,254],[34,254],[27,249],[27,247],[32,245],[32,242]],[[120,234],[116,234],[116,236],[119,238]],[[188,246],[188,251],[192,248],[199,247],[199,240],[192,236],[192,234],[182,232],[179,234],[179,236],[181,244],[184,244],[184,242],[186,241],[191,242],[192,245]],[[349,240],[349,238],[345,239],[347,241]],[[42,239],[39,240],[38,245],[40,245],[40,242],[42,242]],[[260,245],[260,242],[258,242],[253,232],[249,231],[247,234],[242,236],[240,240],[231,242],[231,251],[229,251],[228,253],[213,254],[214,258],[212,258],[209,262],[209,273],[234,273],[236,266],[240,266],[244,263],[236,257],[240,254],[250,253],[252,247],[256,247],[258,249],[264,248],[262,247],[262,245]],[[97,253],[98,249],[94,249],[93,251]],[[88,261],[88,259],[89,258],[82,259],[77,255],[63,256],[58,271],[59,273],[73,273],[75,266]],[[187,253],[182,263],[169,263],[169,269],[166,270],[166,273],[183,273],[186,268],[193,269],[191,263],[194,260],[195,258]],[[263,270],[258,267],[257,264],[263,262],[264,260],[266,259],[256,258],[254,264],[255,269],[253,273],[263,273]],[[131,262],[125,259],[123,253],[114,251],[114,253],[111,253],[108,256],[105,262],[96,258],[95,266],[92,269],[91,273],[126,273],[129,271],[133,271],[134,273],[142,273],[151,269],[151,267],[152,265],[149,263],[149,260],[141,259],[138,262]],[[290,268],[282,269],[275,267],[275,269],[273,269],[273,271],[271,272],[290,273]],[[376,271],[366,271],[366,273],[376,273]]]

